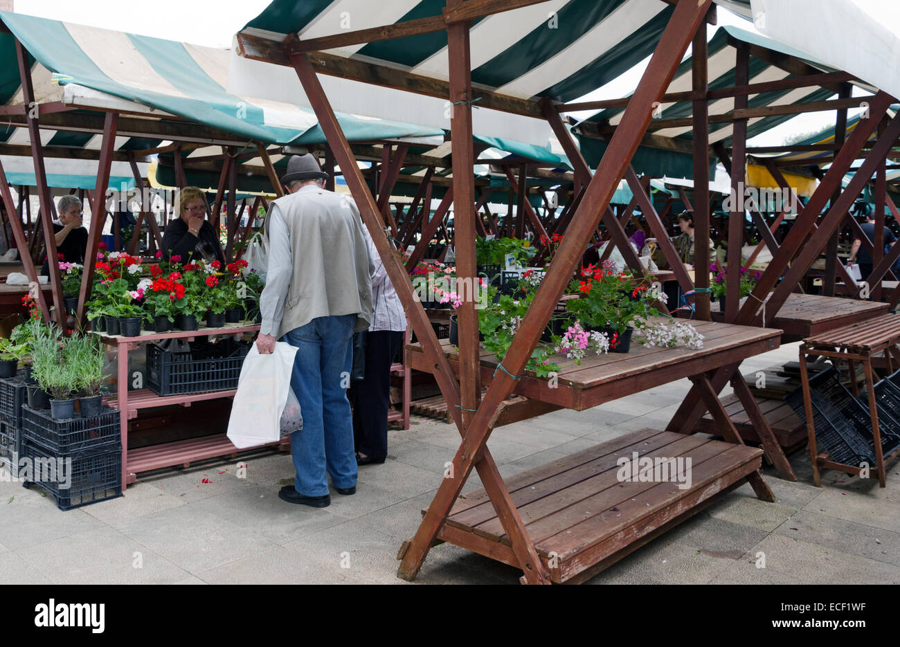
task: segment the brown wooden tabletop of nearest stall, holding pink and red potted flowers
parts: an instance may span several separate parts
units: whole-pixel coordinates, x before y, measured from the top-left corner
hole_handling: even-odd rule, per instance
[[[527,373],[517,382],[515,393],[568,409],[590,409],[609,400],[617,400],[654,386],[674,382],[747,357],[760,355],[779,346],[781,331],[775,328],[753,328],[713,321],[691,321],[706,338],[703,348],[691,350],[647,347],[636,336],[628,353],[590,355],[581,365],[564,355],[552,361],[560,371],[554,387],[545,378]],[[442,349],[455,371],[458,371],[456,346],[441,340]],[[419,344],[407,346],[412,368],[430,373]],[[497,368],[497,357],[482,348],[482,384],[489,384]]]

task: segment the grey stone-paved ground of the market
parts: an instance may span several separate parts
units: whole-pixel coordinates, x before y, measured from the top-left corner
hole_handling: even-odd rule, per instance
[[[752,358],[745,373],[797,359],[797,345]],[[504,478],[641,427],[662,428],[689,389],[682,380],[588,411],[561,410],[494,432]],[[725,391],[729,392],[729,391]],[[389,432],[383,465],[360,468],[357,493],[329,508],[277,497],[293,482],[284,454],[142,474],[120,499],[58,511],[40,489],[0,481],[0,572],[19,583],[379,583],[415,532],[458,446],[455,427],[414,418]],[[812,485],[763,470],[777,501],[749,485],[603,571],[591,584],[900,584],[900,465],[878,481],[826,472]],[[203,482],[206,481],[211,482]],[[481,487],[477,474],[465,490]],[[759,568],[764,560],[765,568]],[[428,553],[416,583],[516,584],[520,572],[451,544]]]

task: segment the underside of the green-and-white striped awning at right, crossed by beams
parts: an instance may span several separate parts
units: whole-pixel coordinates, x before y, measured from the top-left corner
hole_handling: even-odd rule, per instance
[[[732,44],[734,40],[743,41],[752,45],[758,45],[765,49],[771,49],[780,54],[787,54],[797,58],[803,58],[803,55],[796,49],[791,49],[780,44],[775,40],[759,36],[751,31],[745,31],[733,26],[720,27],[712,39],[709,40],[708,60],[707,60],[707,76],[710,89],[731,87],[734,85],[734,66],[736,49]],[[834,71],[833,68],[824,64],[806,59],[806,62],[826,72]],[[751,56],[750,58],[750,82],[762,83],[766,81],[776,81],[783,78],[794,76],[785,71],[781,67],[771,65],[768,61]],[[873,88],[869,85],[861,85],[865,89],[871,91]],[[691,89],[691,58],[686,58],[681,62],[678,71],[675,73],[671,84],[666,90],[667,93],[685,92]],[[765,92],[761,94],[752,94],[748,99],[748,107],[756,108],[768,105],[786,105],[792,103],[813,103],[824,101],[833,96],[833,91],[822,87],[800,87],[793,90],[779,90],[775,92]],[[709,103],[709,114],[725,114],[734,109],[734,98],[724,98],[711,101]],[[585,121],[596,121],[600,123],[608,123],[609,125],[617,125],[621,120],[624,109],[610,108],[598,112],[590,116]],[[659,119],[677,119],[689,117],[692,112],[691,102],[682,101],[679,103],[664,103],[662,111],[655,115]],[[776,115],[769,117],[754,117],[748,120],[747,137],[748,139],[759,135],[761,132],[770,130],[784,121],[788,121],[792,114]],[[577,128],[577,127],[576,127]],[[653,124],[651,124],[653,128]],[[692,141],[692,131],[690,126],[680,126],[677,128],[666,128],[662,130],[652,130],[655,135],[670,137],[674,139],[684,139]],[[731,145],[731,138],[734,127],[731,123],[711,123],[709,125],[709,143],[710,145],[717,142],[723,143],[726,147]]]

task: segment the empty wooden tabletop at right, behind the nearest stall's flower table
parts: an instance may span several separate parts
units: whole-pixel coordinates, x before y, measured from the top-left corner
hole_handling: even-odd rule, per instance
[[[746,299],[747,297],[744,297],[741,303],[743,304]],[[772,320],[772,326],[781,328],[787,336],[805,338],[841,328],[854,321],[885,314],[889,307],[887,303],[878,301],[791,293]],[[713,319],[721,319],[722,313],[719,311],[717,301],[710,304],[710,310]]]

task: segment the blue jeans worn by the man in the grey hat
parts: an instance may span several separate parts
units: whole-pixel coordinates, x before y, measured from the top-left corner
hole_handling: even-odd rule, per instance
[[[356,485],[353,418],[347,386],[353,365],[356,315],[318,317],[282,337],[298,348],[291,387],[300,402],[303,428],[291,434],[291,454],[297,471],[294,490],[304,497]]]

